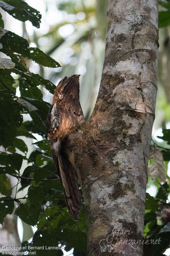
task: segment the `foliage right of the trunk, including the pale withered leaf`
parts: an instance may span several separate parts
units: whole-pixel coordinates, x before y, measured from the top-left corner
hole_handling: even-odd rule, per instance
[[[162,133],[163,136],[158,137],[167,141],[167,145],[170,144],[169,129],[163,129]],[[170,160],[170,149],[158,145],[155,141],[152,144],[150,158],[154,158],[155,162],[151,161],[149,174],[153,180],[156,180],[158,192],[155,198],[146,193],[144,237],[149,240],[149,244],[144,244],[144,255],[160,256],[170,244],[169,239],[167,239],[170,236],[170,203],[168,200],[170,178],[166,175],[167,181],[162,185],[159,183],[165,179],[166,174],[162,158],[164,161]],[[157,239],[159,239],[158,243],[151,242]]]

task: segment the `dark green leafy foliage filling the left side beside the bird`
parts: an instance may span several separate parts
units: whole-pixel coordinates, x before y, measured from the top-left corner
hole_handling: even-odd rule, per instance
[[[24,1],[0,1],[0,6],[14,18],[30,20],[33,26],[39,28],[41,14]],[[50,104],[43,100],[41,86],[54,93],[55,85],[40,75],[31,73],[26,63],[33,60],[51,68],[60,65],[40,49],[30,48],[26,39],[5,30],[2,17],[0,25],[0,51],[7,55],[0,59],[0,118],[3,124],[0,127],[0,145],[3,147],[0,152],[0,193],[3,196],[0,198],[0,223],[3,223],[7,214],[13,212],[15,203],[18,205],[15,214],[28,225],[38,228],[30,245],[62,244],[67,245],[68,250],[75,247],[78,252],[85,252],[85,212],[82,211],[77,223],[67,212],[45,127]],[[18,75],[17,80],[13,78],[14,74]],[[16,96],[18,86],[20,97]],[[29,115],[30,121],[25,122],[23,114]],[[34,143],[34,151],[27,156],[25,138],[36,140],[34,133],[41,135],[42,140]],[[28,162],[28,166],[21,173],[23,160]],[[17,186],[11,188],[6,174],[17,178]],[[17,196],[19,183],[20,191],[27,187],[27,194],[22,200]],[[46,253],[47,250],[37,250],[36,255]],[[56,253],[63,255],[60,250],[55,255]],[[54,250],[48,250],[48,255],[53,254]]]

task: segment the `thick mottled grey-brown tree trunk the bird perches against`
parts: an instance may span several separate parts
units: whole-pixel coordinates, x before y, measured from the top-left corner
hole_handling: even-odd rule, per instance
[[[108,0],[107,16],[97,102],[89,122],[69,135],[68,147],[87,211],[87,255],[141,256],[157,92],[158,1]]]

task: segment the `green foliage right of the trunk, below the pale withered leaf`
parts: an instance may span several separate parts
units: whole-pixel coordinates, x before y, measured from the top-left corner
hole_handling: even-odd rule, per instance
[[[169,185],[167,183],[160,186],[156,197],[150,196],[146,193],[146,210],[144,218],[144,236],[149,240],[149,244],[144,244],[144,255],[160,256],[169,247],[170,227],[170,213],[166,216],[163,213],[165,209],[170,207],[166,203],[169,194]],[[159,239],[159,243],[152,243]],[[148,254],[149,252],[149,254]]]

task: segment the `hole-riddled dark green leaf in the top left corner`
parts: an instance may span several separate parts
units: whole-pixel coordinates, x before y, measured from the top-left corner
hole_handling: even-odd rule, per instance
[[[25,22],[26,20],[31,21],[33,26],[40,28],[41,14],[36,9],[29,6],[25,1],[22,0],[3,0],[0,1],[0,7],[8,12],[12,17],[17,20]]]

